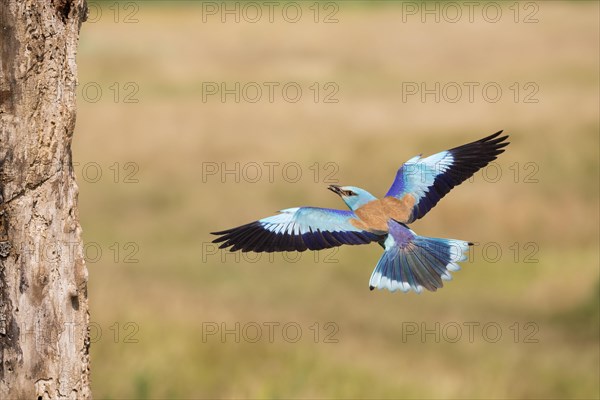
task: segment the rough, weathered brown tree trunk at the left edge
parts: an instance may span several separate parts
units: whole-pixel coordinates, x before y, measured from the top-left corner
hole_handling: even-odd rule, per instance
[[[0,398],[89,398],[71,163],[85,0],[0,0]]]

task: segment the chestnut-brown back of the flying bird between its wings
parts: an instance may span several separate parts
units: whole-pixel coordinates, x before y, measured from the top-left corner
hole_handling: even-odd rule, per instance
[[[358,219],[352,219],[352,225],[370,232],[387,232],[390,218],[399,222],[407,222],[415,205],[415,199],[410,194],[402,199],[384,197],[368,202],[354,211]]]

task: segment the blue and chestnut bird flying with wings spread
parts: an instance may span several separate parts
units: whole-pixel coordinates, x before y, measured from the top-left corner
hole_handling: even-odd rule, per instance
[[[436,291],[458,271],[472,243],[419,236],[408,225],[422,218],[454,186],[504,152],[502,131],[450,150],[405,162],[382,199],[355,186],[330,185],[350,210],[295,207],[237,228],[213,232],[230,251],[322,250],[379,243],[384,252],[371,274],[371,290]]]

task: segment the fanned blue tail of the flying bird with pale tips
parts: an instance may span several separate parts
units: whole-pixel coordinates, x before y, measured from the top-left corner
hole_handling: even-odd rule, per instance
[[[463,240],[418,236],[406,225],[390,220],[385,251],[377,263],[369,288],[420,293],[423,288],[435,291],[458,271],[458,262],[466,260],[472,243]]]

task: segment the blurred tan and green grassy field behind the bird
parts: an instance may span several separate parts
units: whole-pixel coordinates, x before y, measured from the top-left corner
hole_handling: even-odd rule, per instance
[[[402,22],[399,4],[352,2],[332,24],[314,23],[309,3],[295,24],[203,22],[195,2],[122,2],[119,15],[114,4],[91,3],[102,14],[82,26],[73,146],[95,398],[600,396],[598,3],[538,2],[537,23],[515,23],[507,3],[497,23],[421,23]],[[304,92],[204,102],[203,82]],[[319,100],[336,83],[339,101],[315,103],[314,82]],[[503,94],[404,101],[406,82]],[[536,103],[524,102],[528,82]],[[370,292],[377,245],[253,260],[210,244],[210,231],[279,209],[343,208],[328,177],[383,195],[412,156],[499,129],[512,144],[498,169],[413,225],[479,243],[437,293]],[[206,175],[235,163],[262,166],[261,179]],[[297,182],[281,174],[289,163]],[[236,323],[240,343],[207,335]],[[261,339],[243,340],[255,324]]]

